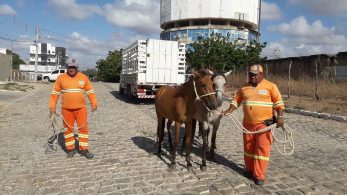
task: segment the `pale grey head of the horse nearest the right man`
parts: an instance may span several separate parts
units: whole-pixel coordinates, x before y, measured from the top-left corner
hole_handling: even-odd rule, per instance
[[[227,76],[232,72],[232,70],[227,73],[213,73],[210,70],[209,72],[212,75],[211,80],[213,82],[213,91],[215,92],[217,103],[220,107],[223,103],[224,89],[227,85]]]

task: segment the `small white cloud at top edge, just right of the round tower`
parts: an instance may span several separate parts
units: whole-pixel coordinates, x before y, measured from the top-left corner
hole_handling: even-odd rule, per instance
[[[283,17],[282,11],[275,3],[262,2],[261,19],[278,20]]]

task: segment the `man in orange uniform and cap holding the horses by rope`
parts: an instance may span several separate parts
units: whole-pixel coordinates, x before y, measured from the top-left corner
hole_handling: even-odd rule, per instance
[[[232,113],[243,104],[243,126],[251,132],[266,128],[272,123],[284,125],[285,109],[277,86],[263,79],[263,68],[259,64],[250,67],[249,82],[241,86],[228,110]],[[277,111],[277,119],[274,110]],[[269,162],[272,135],[270,131],[257,134],[243,134],[246,175],[255,179],[255,184],[264,185],[265,171]]]

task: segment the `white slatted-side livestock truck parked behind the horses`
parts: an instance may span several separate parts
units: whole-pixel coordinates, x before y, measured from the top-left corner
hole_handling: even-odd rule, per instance
[[[123,50],[119,92],[128,98],[154,98],[160,86],[185,82],[186,49],[183,42],[137,40]]]

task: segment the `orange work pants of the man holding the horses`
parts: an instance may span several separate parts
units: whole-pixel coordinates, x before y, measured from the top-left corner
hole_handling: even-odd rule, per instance
[[[243,123],[244,127],[251,132],[266,128],[265,124]],[[272,135],[270,131],[258,134],[245,134],[244,137],[244,158],[246,171],[253,172],[254,179],[265,181],[265,171],[268,166]]]

